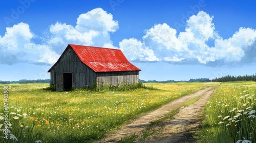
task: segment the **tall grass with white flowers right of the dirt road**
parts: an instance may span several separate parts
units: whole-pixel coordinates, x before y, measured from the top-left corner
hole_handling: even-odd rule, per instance
[[[198,142],[256,142],[256,83],[222,83],[206,104]]]

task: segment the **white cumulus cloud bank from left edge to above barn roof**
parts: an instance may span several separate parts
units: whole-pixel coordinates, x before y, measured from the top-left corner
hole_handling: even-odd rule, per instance
[[[117,29],[118,21],[113,20],[113,15],[97,8],[80,14],[75,26],[56,22],[46,32],[48,37],[42,36],[44,41],[36,44],[33,39],[38,36],[21,22],[6,28],[5,35],[0,36],[0,63],[53,64],[69,43],[117,48],[110,38],[110,33]]]

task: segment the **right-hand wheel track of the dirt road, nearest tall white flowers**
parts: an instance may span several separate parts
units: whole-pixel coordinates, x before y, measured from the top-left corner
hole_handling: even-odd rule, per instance
[[[196,142],[196,139],[193,138],[193,133],[190,131],[196,131],[201,126],[202,119],[199,117],[199,113],[202,112],[203,106],[214,91],[214,89],[207,91],[195,103],[181,108],[179,113],[174,116],[174,120],[165,120],[163,122],[164,128],[155,134],[154,138],[147,139],[143,142]]]

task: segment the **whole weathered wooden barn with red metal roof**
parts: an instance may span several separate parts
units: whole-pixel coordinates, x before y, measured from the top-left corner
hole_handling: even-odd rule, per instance
[[[63,91],[72,87],[91,88],[93,84],[135,83],[139,71],[121,50],[68,44],[48,73],[51,73],[51,86]]]

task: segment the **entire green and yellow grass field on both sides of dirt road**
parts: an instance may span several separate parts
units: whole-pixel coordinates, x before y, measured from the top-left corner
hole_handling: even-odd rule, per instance
[[[49,84],[0,85],[0,142],[93,142],[145,112],[208,86],[218,87],[202,113],[198,142],[256,142],[255,82],[145,85],[132,91],[63,92],[44,90]],[[3,132],[5,111],[8,139]]]

